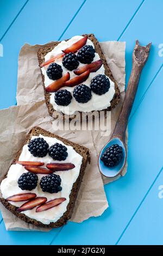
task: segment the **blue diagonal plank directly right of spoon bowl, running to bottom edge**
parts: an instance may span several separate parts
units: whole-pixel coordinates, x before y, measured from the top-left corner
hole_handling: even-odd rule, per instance
[[[128,173],[105,186],[110,208],[99,218],[69,223],[53,244],[115,244],[120,237],[162,167],[162,79],[160,72],[130,120]]]

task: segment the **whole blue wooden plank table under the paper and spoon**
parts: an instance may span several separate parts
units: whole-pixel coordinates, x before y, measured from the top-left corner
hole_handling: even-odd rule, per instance
[[[1,108],[16,104],[17,58],[25,42],[84,33],[126,41],[127,82],[135,39],[153,43],[129,120],[128,173],[105,186],[110,207],[101,217],[48,233],[6,231],[0,214],[2,245],[163,243],[162,9],[162,0],[0,0]]]

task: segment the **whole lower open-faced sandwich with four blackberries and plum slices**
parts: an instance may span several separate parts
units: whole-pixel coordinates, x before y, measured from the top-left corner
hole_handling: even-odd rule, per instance
[[[27,223],[57,228],[71,218],[89,150],[34,127],[1,181],[1,203]]]

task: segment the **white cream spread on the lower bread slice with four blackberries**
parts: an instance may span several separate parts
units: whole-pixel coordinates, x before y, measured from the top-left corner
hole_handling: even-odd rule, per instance
[[[56,138],[52,137],[45,137],[42,135],[39,135],[39,137],[45,139],[45,141],[49,144],[49,147],[53,145],[54,143],[60,143],[62,145],[65,145],[63,142],[59,141]],[[37,138],[37,136],[32,136],[31,139]],[[21,190],[20,187],[18,187],[17,180],[18,178],[23,174],[27,173],[28,171],[24,169],[23,166],[20,164],[12,164],[7,178],[5,178],[1,182],[1,192],[3,198],[8,198],[10,196],[13,196],[18,193],[36,193],[37,197],[46,197],[47,201],[53,200],[55,198],[60,198],[60,197],[65,197],[66,200],[62,202],[60,205],[55,206],[54,208],[48,209],[46,211],[42,212],[36,212],[36,208],[32,210],[27,210],[23,211],[22,213],[28,216],[29,218],[33,218],[36,221],[40,221],[43,224],[49,224],[50,222],[56,222],[59,220],[59,218],[64,214],[64,212],[67,209],[67,205],[69,203],[69,196],[72,190],[72,186],[74,182],[76,182],[79,173],[80,173],[80,166],[82,164],[82,159],[83,157],[79,155],[71,146],[65,145],[67,148],[67,153],[68,156],[66,160],[64,161],[54,161],[52,157],[50,157],[48,154],[45,157],[34,157],[30,152],[28,151],[28,144],[24,145],[22,153],[19,157],[19,161],[41,161],[45,163],[46,167],[47,163],[50,162],[56,162],[56,163],[73,163],[75,165],[75,168],[71,170],[66,170],[66,171],[59,171],[55,172],[55,174],[60,175],[61,178],[61,187],[62,190],[58,193],[47,193],[43,192],[40,187],[40,180],[42,176],[45,176],[45,174],[37,174],[38,176],[38,182],[37,182],[37,187],[32,190],[32,191],[27,191],[27,190]],[[20,207],[23,203],[25,202],[10,202],[10,204],[15,205],[17,207]]]

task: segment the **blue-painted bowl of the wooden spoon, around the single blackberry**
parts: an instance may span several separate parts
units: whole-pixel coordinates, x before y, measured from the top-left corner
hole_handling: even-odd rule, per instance
[[[101,160],[102,155],[104,154],[105,150],[107,148],[109,148],[110,146],[112,146],[113,144],[118,144],[122,147],[123,150],[123,159],[121,160],[121,162],[119,164],[117,164],[117,166],[114,167],[107,167],[105,166],[105,164],[103,163],[103,161]],[[101,153],[99,154],[98,157],[98,167],[99,170],[101,172],[101,174],[103,174],[105,177],[107,178],[114,178],[118,175],[121,175],[122,170],[125,166],[126,163],[126,157],[127,157],[127,153],[126,153],[126,145],[124,145],[124,143],[121,141],[120,138],[112,138],[101,150]]]

